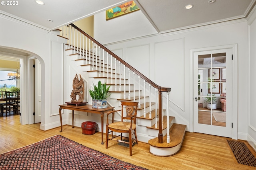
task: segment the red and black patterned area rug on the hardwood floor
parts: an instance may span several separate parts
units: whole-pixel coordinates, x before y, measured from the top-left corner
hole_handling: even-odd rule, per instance
[[[56,135],[0,154],[0,170],[146,170]]]

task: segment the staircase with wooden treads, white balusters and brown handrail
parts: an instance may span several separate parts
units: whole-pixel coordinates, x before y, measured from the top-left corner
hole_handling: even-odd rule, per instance
[[[65,50],[67,61],[86,80],[85,90],[88,91],[93,83],[100,80],[110,85],[108,105],[116,110],[120,109],[121,101],[139,102],[138,140],[149,143],[150,152],[156,156],[176,154],[182,146],[186,125],[174,123],[175,117],[169,116],[171,89],[158,86],[146,78],[74,24],[60,30],[61,36],[68,39]],[[118,113],[115,120],[119,119]]]

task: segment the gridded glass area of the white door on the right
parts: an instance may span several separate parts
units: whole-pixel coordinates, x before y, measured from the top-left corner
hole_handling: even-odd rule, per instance
[[[226,127],[226,53],[198,56],[198,123]]]

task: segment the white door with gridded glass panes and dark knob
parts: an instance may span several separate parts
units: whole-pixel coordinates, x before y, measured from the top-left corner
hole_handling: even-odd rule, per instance
[[[194,132],[232,137],[232,49],[193,55]]]

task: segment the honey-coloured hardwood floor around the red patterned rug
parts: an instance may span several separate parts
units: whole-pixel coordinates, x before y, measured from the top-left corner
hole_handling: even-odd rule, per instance
[[[142,142],[133,147],[130,156],[129,148],[116,145],[115,141],[109,141],[106,149],[105,145],[100,144],[100,132],[83,135],[81,127],[72,128],[70,125],[63,126],[62,132],[59,132],[60,127],[48,131],[41,131],[39,128],[40,123],[20,125],[19,115],[0,117],[0,154],[59,134],[86,147],[150,170],[255,170],[255,167],[236,162],[225,137],[186,132],[182,148],[174,156],[154,156],[149,152],[150,146]]]

